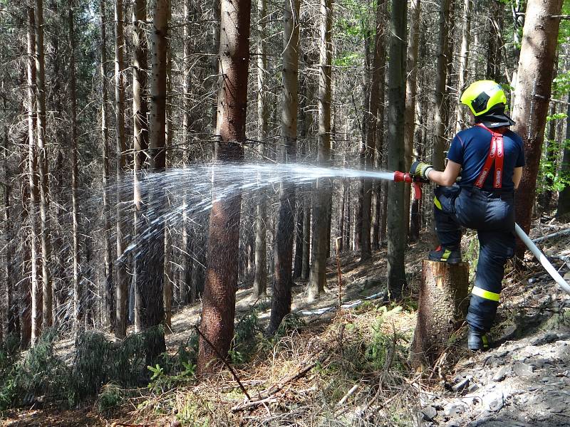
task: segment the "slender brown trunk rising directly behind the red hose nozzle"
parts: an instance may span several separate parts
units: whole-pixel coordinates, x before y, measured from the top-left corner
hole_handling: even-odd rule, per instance
[[[415,97],[418,94],[418,45],[420,41],[420,0],[410,3],[410,33],[408,34],[408,60],[406,62],[405,110],[404,110],[404,172],[410,170],[413,161]],[[405,227],[410,236],[410,184],[404,184]],[[410,236],[411,237],[411,236]]]

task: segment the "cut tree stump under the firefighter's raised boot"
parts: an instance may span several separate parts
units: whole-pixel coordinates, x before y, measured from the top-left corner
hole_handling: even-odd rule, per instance
[[[422,283],[411,348],[414,367],[431,366],[449,346],[469,307],[469,263],[423,260]]]

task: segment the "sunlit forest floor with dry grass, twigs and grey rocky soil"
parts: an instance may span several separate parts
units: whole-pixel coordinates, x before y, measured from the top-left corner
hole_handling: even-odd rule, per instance
[[[532,238],[568,224],[535,227]],[[474,270],[473,234],[464,258]],[[570,235],[541,242],[566,280]],[[269,300],[237,293],[237,331],[252,334],[244,355],[234,354],[232,374],[196,381],[155,381],[150,389],[124,391],[121,404],[98,410],[98,401],[73,410],[31,407],[6,413],[3,426],[568,426],[570,425],[570,296],[532,261],[524,273],[510,272],[502,292],[497,347],[472,354],[465,337],[436,369],[416,372],[408,364],[421,259],[428,245],[414,244],[406,256],[409,295],[385,301],[385,250],[360,265],[355,253],[341,256],[343,310],[336,310],[336,265],[329,265],[325,295],[306,302],[306,283],[294,287],[288,327],[269,339]],[[368,298],[368,299],[367,299]],[[199,304],[172,317],[167,348],[175,354],[192,339]],[[249,323],[248,323],[249,322]],[[247,332],[247,331],[246,331]],[[251,331],[250,331],[251,332]],[[73,340],[61,339],[58,354],[73,359]]]

